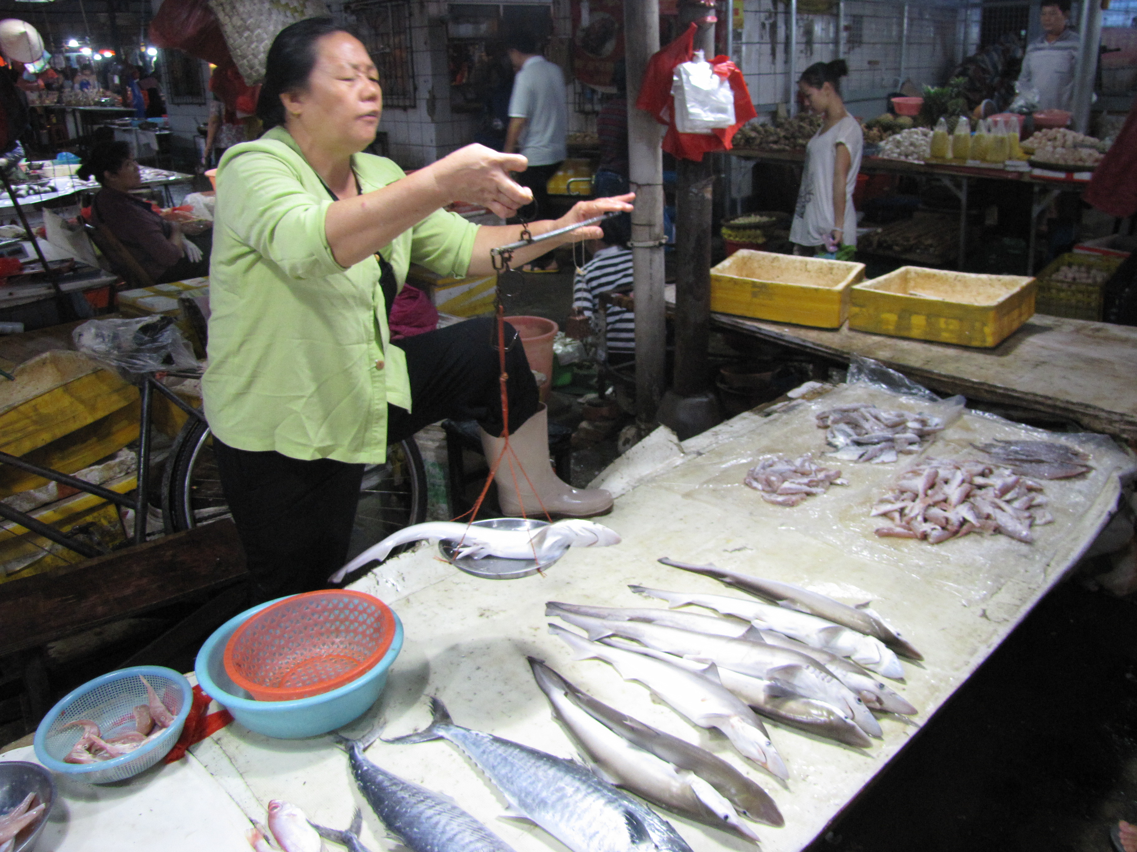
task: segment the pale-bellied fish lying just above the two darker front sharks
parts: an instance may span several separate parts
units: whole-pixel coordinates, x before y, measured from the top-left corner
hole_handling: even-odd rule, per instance
[[[659,660],[591,642],[557,625],[550,624],[549,632],[564,640],[575,652],[578,660],[604,660],[622,678],[639,680],[661,701],[699,727],[721,730],[742,757],[749,758],[778,778],[789,778],[786,763],[770,742],[766,726],[741,699],[722,684]],[[611,635],[611,632],[605,635]]]

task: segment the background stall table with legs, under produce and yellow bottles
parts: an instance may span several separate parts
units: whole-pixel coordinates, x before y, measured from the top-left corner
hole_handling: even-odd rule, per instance
[[[802,164],[804,151],[758,151],[736,148],[731,150],[735,157],[758,162]],[[998,166],[963,166],[947,162],[912,162],[888,157],[865,157],[861,160],[863,174],[910,175],[914,177],[931,177],[938,179],[960,200],[960,235],[956,267],[962,270],[966,259],[968,247],[968,192],[970,182],[1014,181],[1030,184],[1031,217],[1030,234],[1027,239],[1027,275],[1035,272],[1035,242],[1038,217],[1047,210],[1051,203],[1062,192],[1081,192],[1089,185],[1088,172],[1052,172],[1048,169],[1007,169]]]

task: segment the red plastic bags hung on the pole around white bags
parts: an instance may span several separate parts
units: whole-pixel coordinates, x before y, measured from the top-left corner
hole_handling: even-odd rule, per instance
[[[711,67],[715,74],[730,83],[730,89],[735,93],[735,124],[711,133],[680,133],[675,130],[675,99],[671,94],[671,82],[675,67],[691,61],[695,56],[697,30],[698,27],[691,24],[675,41],[653,55],[644,72],[644,83],[636,106],[650,112],[659,124],[667,125],[667,133],[663,137],[664,151],[684,160],[702,162],[704,153],[729,151],[738,128],[758,114],[750,102],[750,92],[738,66],[729,57],[716,56],[709,60]]]

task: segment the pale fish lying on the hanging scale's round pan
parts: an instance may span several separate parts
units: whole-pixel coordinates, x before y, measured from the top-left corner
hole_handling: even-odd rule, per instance
[[[475,527],[468,524],[455,524],[449,520],[432,520],[426,524],[415,524],[392,533],[377,544],[367,548],[335,574],[327,578],[329,583],[340,583],[356,568],[368,562],[382,561],[400,544],[422,541],[423,538],[441,538],[459,542],[458,558],[481,559],[483,557],[501,557],[503,559],[536,559],[540,563],[559,558],[571,546],[606,548],[620,544],[620,534],[608,527],[583,518],[565,518],[556,524],[549,524],[536,532],[528,529],[491,529]]]

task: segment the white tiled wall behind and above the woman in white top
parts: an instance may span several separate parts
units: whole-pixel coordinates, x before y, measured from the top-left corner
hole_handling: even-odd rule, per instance
[[[883,111],[885,95],[901,82],[904,3],[845,0],[845,32],[838,42],[838,6],[825,15],[798,14],[795,73],[813,62],[843,57],[849,76],[841,81],[849,109],[856,115]],[[961,27],[954,6],[908,5],[904,76],[919,85],[941,85],[957,61]],[[787,62],[788,3],[747,0],[742,32],[736,33],[735,57],[746,75],[760,111],[770,111],[790,98]]]

